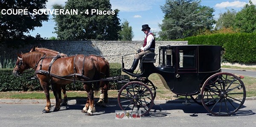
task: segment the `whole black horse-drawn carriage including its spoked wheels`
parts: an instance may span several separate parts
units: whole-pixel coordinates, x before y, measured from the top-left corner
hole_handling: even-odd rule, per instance
[[[158,66],[154,66],[154,56],[150,53],[142,58],[139,74],[126,72],[135,80],[143,80],[129,82],[119,90],[122,110],[141,110],[143,115],[151,110],[156,88],[148,76],[153,73],[159,75],[166,89],[185,96],[184,104],[189,104],[190,96],[213,115],[232,115],[244,104],[244,83],[236,75],[221,72],[221,46],[160,46]]]

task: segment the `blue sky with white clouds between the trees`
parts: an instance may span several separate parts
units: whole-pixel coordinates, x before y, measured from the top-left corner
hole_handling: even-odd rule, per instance
[[[67,0],[66,0],[67,1]],[[256,0],[251,0],[256,4]],[[112,9],[119,9],[118,18],[120,23],[124,20],[129,22],[134,32],[132,40],[144,40],[144,33],[141,31],[143,24],[148,24],[152,32],[159,32],[161,29],[159,24],[162,24],[164,14],[160,8],[166,3],[166,0],[110,0]],[[202,6],[209,6],[215,10],[214,18],[217,20],[220,13],[227,12],[227,9],[234,9],[236,12],[241,10],[249,0],[201,0]],[[52,9],[53,4],[65,5],[65,0],[48,0],[47,9]],[[53,33],[55,21],[52,20],[52,15],[49,15],[49,20],[42,23],[42,27],[36,27],[30,31],[28,35],[40,34],[42,38],[57,37]]]

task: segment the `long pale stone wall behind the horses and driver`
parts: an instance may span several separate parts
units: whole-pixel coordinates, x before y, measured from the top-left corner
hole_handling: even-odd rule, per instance
[[[158,54],[159,46],[167,45],[187,45],[187,41],[156,41],[155,53]],[[10,44],[9,44],[10,45]],[[17,45],[16,48],[9,46],[0,46],[0,60],[3,65],[3,59],[17,59],[16,53],[29,52],[33,46],[52,49],[67,55],[99,55],[106,58],[109,63],[122,63],[124,56],[125,67],[131,66],[134,54],[137,49],[143,45],[143,41],[64,41],[64,40],[45,40],[36,43],[28,43],[26,45]],[[158,61],[158,56],[157,56]],[[155,63],[158,64],[158,63]]]

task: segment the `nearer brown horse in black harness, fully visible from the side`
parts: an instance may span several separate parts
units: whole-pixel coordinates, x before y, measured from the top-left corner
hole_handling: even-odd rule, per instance
[[[38,65],[38,66],[37,66]],[[93,60],[84,55],[76,55],[65,58],[49,58],[44,52],[29,52],[18,54],[14,75],[19,75],[24,70],[32,68],[39,79],[41,87],[44,89],[47,104],[43,113],[49,113],[51,103],[49,97],[49,86],[52,84],[56,99],[54,111],[60,109],[61,100],[58,94],[61,85],[70,84],[75,81],[91,81],[99,79],[97,77],[96,66]],[[87,92],[88,101],[82,112],[92,115],[95,112],[93,88],[91,83],[83,83]],[[97,86],[95,86],[97,89]]]

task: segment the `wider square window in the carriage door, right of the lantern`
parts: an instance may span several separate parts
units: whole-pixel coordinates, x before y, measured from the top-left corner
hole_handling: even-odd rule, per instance
[[[195,67],[195,50],[180,50],[179,67]]]

